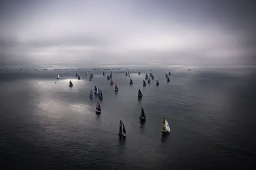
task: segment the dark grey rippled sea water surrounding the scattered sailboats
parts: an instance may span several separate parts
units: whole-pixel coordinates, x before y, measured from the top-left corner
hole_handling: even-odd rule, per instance
[[[125,69],[113,71],[118,92],[107,70],[94,71],[92,81],[84,69],[0,70],[1,169],[255,169],[255,67],[152,69],[146,87],[151,68],[131,69],[132,85]],[[102,100],[89,98],[94,85]],[[171,128],[165,138],[163,117]],[[126,140],[118,139],[119,120]]]

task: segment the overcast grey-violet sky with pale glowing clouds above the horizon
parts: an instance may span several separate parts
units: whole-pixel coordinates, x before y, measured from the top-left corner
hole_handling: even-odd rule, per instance
[[[1,1],[2,65],[256,64],[246,0]]]

